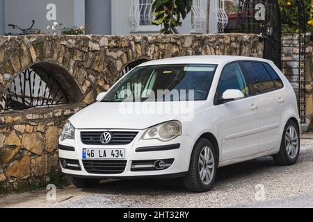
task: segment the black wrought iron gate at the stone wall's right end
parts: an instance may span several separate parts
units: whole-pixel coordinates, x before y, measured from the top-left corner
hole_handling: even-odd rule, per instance
[[[294,85],[298,96],[301,123],[305,123],[305,33],[306,24],[303,0],[296,0],[294,12],[298,15],[296,24],[281,24],[280,7],[277,0],[239,0],[237,29],[240,33],[256,33],[264,40],[264,58],[273,60],[275,65]],[[264,16],[262,11],[264,10]],[[284,26],[296,26],[298,32],[289,39],[282,35]],[[289,33],[291,34],[291,33]],[[295,56],[296,55],[296,56]]]

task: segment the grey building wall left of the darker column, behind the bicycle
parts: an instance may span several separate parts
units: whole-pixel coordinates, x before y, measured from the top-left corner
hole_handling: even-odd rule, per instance
[[[85,26],[85,0],[4,0],[5,1],[5,31],[16,33],[8,27],[8,24],[16,24],[21,28],[29,28],[31,20],[35,20],[33,28],[40,29],[41,33],[47,33],[47,25],[54,22],[63,24],[65,27]],[[47,17],[49,4],[56,6],[56,17]]]

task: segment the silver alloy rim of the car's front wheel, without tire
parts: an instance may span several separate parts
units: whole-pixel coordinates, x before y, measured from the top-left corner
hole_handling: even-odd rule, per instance
[[[199,173],[202,182],[209,185],[214,176],[214,155],[209,146],[204,146],[199,156]]]

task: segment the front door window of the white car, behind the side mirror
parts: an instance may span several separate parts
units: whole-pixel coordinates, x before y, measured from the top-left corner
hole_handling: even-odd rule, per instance
[[[218,83],[218,97],[223,95],[227,89],[239,89],[245,96],[249,96],[249,88],[246,78],[238,62],[224,67]]]

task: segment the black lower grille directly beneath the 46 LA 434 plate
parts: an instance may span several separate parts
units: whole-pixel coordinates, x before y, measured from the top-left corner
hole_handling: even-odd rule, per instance
[[[83,160],[88,173],[118,174],[125,171],[127,160]]]

